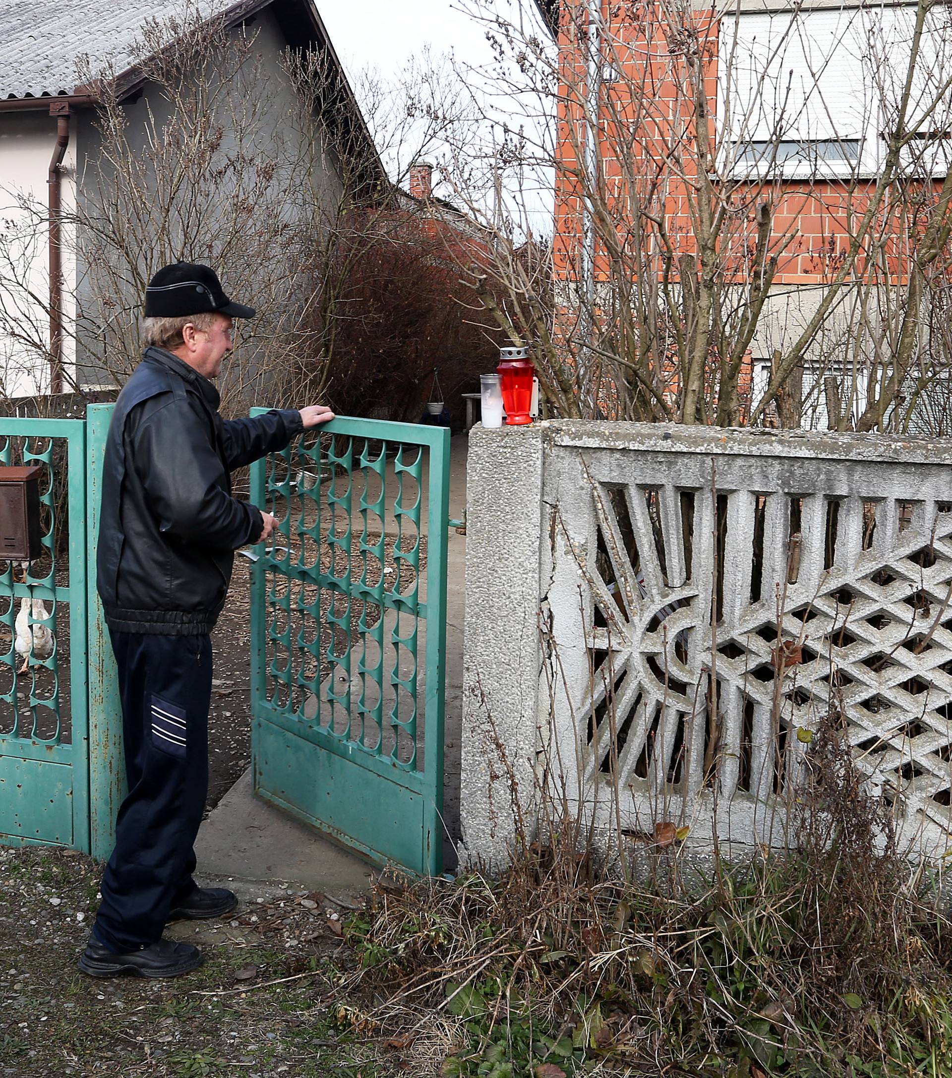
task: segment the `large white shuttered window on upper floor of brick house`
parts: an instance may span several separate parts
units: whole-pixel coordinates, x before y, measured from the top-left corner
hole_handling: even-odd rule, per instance
[[[906,111],[903,161],[944,175],[952,150],[952,36],[927,20]],[[914,9],[857,6],[726,16],[718,49],[719,162],[741,178],[873,176],[906,84]]]

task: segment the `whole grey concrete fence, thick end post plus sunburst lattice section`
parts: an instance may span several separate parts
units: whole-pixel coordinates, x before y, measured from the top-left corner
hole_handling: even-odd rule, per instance
[[[831,704],[900,842],[942,854],[950,465],[874,436],[474,428],[464,861],[532,837],[543,787],[602,837],[782,844]]]

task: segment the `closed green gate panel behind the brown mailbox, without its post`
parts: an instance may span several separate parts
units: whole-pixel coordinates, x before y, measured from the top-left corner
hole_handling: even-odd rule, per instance
[[[89,848],[85,426],[0,418],[42,529],[39,557],[0,561],[0,843]]]

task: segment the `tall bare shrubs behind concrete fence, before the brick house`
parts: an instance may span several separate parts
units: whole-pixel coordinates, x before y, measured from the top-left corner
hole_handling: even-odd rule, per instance
[[[487,306],[534,346],[555,414],[925,421],[952,362],[928,330],[952,265],[946,8],[844,9],[820,40],[795,6],[750,45],[740,8],[564,4],[556,45],[521,9],[469,6],[496,53],[491,137],[449,171],[497,237],[470,279],[506,295]],[[856,130],[827,75],[844,56]],[[514,257],[526,235],[552,244],[551,305]]]

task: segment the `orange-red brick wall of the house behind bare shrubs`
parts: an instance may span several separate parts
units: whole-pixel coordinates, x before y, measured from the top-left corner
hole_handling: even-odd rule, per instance
[[[558,111],[554,270],[556,279],[572,279],[578,272],[581,244],[581,201],[578,179],[574,176],[580,148],[584,142],[581,109],[571,101],[583,89],[585,64],[581,51],[574,44],[579,27],[584,28],[584,4],[567,0],[563,5],[560,33],[562,93]],[[692,113],[690,95],[685,92],[689,67],[685,53],[690,52],[703,71],[708,138],[714,143],[717,110],[718,20],[710,11],[695,11],[681,25],[666,23],[662,9],[651,3],[605,4],[603,16],[607,37],[613,42],[613,66],[623,78],[603,89],[599,118],[599,155],[604,169],[604,191],[608,205],[631,224],[630,207],[619,201],[618,179],[622,163],[617,146],[632,147],[624,162],[637,170],[635,190],[643,206],[663,206],[664,226],[678,253],[695,251],[695,225],[691,219],[688,184],[698,177],[698,123]],[[581,23],[579,23],[581,19]],[[577,87],[576,94],[570,87]],[[640,99],[640,100],[639,100]],[[643,103],[644,102],[644,103]],[[679,133],[677,152],[680,168],[665,162],[671,151],[673,134]],[[679,175],[678,175],[679,174]],[[868,205],[872,184],[859,182],[851,188],[845,181],[767,181],[737,190],[733,202],[739,207],[732,213],[722,236],[722,250],[737,252],[739,273],[743,277],[745,251],[756,236],[754,209],[767,201],[773,209],[771,245],[776,247],[795,233],[777,268],[778,285],[819,284],[828,280],[839,267],[848,248],[850,234]],[[657,192],[649,196],[648,192]],[[744,205],[748,204],[746,211]],[[893,212],[886,210],[886,213]],[[649,225],[649,229],[651,226]],[[625,233],[624,221],[621,233]],[[874,233],[892,234],[891,249],[885,252],[885,265],[871,267],[860,262],[857,270],[888,272],[893,279],[902,274],[902,236],[914,234],[914,226],[897,212],[891,220],[881,216]],[[627,237],[634,241],[632,230]],[[604,258],[596,259],[604,276]]]

